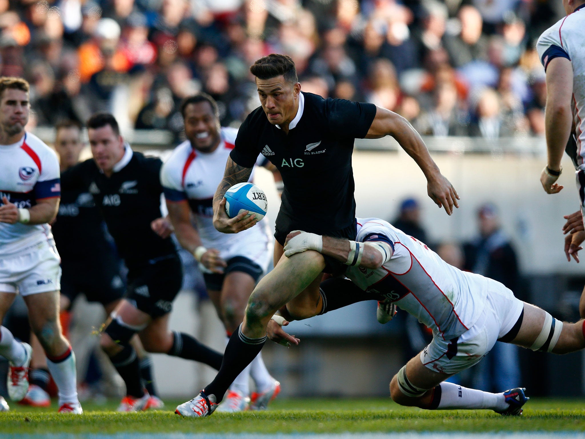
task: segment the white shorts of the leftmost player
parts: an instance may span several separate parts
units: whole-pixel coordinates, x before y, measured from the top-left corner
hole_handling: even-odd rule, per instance
[[[29,294],[61,289],[61,258],[52,239],[29,245],[17,253],[0,253],[0,292]]]

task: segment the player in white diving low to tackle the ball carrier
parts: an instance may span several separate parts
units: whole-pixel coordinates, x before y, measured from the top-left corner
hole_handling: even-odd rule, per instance
[[[511,342],[534,351],[566,354],[585,347],[585,320],[563,323],[549,313],[514,297],[503,284],[463,272],[417,241],[377,218],[357,219],[356,241],[294,231],[287,236],[285,256],[318,251],[349,267],[348,279],[321,283],[321,294],[364,294],[386,298],[433,331],[433,340],[412,358],[390,383],[392,399],[422,409],[491,409],[504,415],[522,413],[528,400],[524,389],[503,393],[467,389],[444,382],[478,363],[495,344]],[[365,291],[365,293],[364,293]],[[323,297],[322,303],[326,303]],[[312,303],[316,303],[313,301]],[[290,314],[321,314],[288,304]],[[278,324],[269,325],[270,338],[297,344]]]

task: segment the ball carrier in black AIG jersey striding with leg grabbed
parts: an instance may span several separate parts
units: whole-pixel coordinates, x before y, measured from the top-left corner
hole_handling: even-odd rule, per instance
[[[373,104],[323,99],[302,93],[294,62],[271,54],[250,67],[261,107],[240,126],[222,182],[214,197],[214,225],[225,233],[253,227],[254,215],[225,213],[223,197],[233,184],[247,181],[259,154],[280,171],[284,191],[276,219],[275,268],[257,284],[239,330],[234,332],[214,381],[198,396],[177,407],[181,416],[208,416],[238,374],[260,352],[273,314],[287,303],[302,309],[321,300],[322,272],[340,273],[345,266],[315,251],[283,256],[286,236],[294,230],[355,240],[352,152],[355,138],[393,136],[421,168],[429,196],[452,214],[457,193],[442,176],[421,137],[408,121]],[[301,257],[299,257],[301,256]],[[295,316],[302,318],[302,316]],[[294,339],[293,339],[294,342]]]

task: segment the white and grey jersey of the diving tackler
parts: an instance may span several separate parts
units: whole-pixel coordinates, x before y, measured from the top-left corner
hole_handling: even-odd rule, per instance
[[[387,297],[446,340],[459,337],[480,317],[486,277],[449,265],[382,219],[357,218],[356,241],[384,241],[394,249],[392,258],[376,270],[347,269],[346,276],[360,289]]]

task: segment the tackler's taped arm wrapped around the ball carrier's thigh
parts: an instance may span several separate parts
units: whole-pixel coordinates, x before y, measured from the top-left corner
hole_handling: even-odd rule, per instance
[[[356,242],[347,239],[331,238],[295,230],[287,235],[284,256],[289,258],[296,253],[314,250],[331,256],[346,265],[377,269],[392,256],[392,248],[385,242]]]

